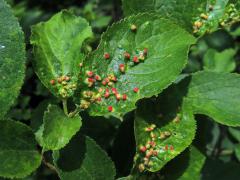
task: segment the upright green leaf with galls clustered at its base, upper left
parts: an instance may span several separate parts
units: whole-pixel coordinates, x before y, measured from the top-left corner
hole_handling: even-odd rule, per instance
[[[91,36],[88,22],[68,11],[62,11],[32,28],[35,71],[57,97],[73,95],[80,72],[79,64],[84,59],[80,50],[83,42]]]

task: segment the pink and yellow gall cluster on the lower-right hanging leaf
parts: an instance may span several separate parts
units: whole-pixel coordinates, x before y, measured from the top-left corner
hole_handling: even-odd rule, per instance
[[[146,127],[144,130],[149,132],[150,140],[146,142],[145,145],[139,146],[139,153],[142,157],[140,159],[140,163],[138,165],[138,169],[140,172],[143,172],[146,168],[150,168],[153,165],[154,157],[158,156],[159,153],[163,151],[173,151],[174,148],[172,145],[165,145],[165,147],[157,147],[157,140],[164,140],[171,136],[171,132],[163,131],[159,132],[155,130],[156,125],[151,124],[150,126]]]

